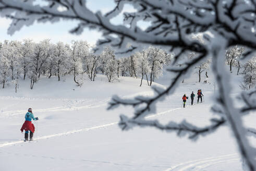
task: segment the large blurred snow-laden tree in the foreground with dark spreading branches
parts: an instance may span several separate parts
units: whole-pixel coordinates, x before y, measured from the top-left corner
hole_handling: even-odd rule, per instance
[[[256,5],[254,0],[211,0],[211,1],[167,1],[167,0],[116,0],[113,10],[106,14],[93,13],[85,0],[47,1],[47,5],[35,5],[32,1],[1,0],[0,14],[13,20],[8,29],[13,34],[22,26],[34,21],[58,22],[61,18],[77,20],[78,25],[71,33],[81,33],[84,28],[97,29],[105,39],[98,41],[97,49],[112,45],[117,54],[143,50],[145,45],[157,45],[175,50],[176,56],[172,64],[176,64],[182,54],[187,51],[197,53],[191,60],[186,60],[181,67],[173,66],[168,71],[173,73],[172,81],[166,89],[155,88],[155,96],[135,97],[123,100],[113,97],[109,108],[120,104],[136,107],[135,116],[128,118],[121,115],[119,126],[129,129],[134,126],[151,126],[161,130],[187,133],[191,139],[214,132],[223,125],[230,127],[239,147],[240,154],[250,171],[256,170],[255,148],[249,143],[247,128],[242,122],[243,113],[255,110],[255,104],[244,103],[243,107],[235,107],[230,101],[231,86],[225,71],[225,50],[231,46],[245,46],[243,59],[250,59],[256,50],[255,19]],[[110,20],[120,14],[125,4],[137,9],[135,13],[125,13],[126,26],[115,25]],[[59,7],[65,10],[58,10]],[[140,20],[151,21],[146,29],[140,29]],[[130,27],[127,27],[129,25]],[[191,39],[192,34],[203,34],[204,43]],[[145,117],[155,112],[155,104],[175,91],[175,88],[192,68],[207,58],[212,57],[212,68],[218,86],[215,103],[218,104],[209,126],[199,128],[183,121],[178,124],[170,122],[160,124],[157,120],[146,120]],[[256,93],[248,94],[255,99]],[[243,100],[243,99],[242,99]],[[137,107],[142,106],[142,107]]]

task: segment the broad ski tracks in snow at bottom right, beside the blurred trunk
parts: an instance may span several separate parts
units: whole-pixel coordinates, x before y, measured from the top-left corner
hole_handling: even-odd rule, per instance
[[[209,157],[209,158],[202,158],[199,160],[193,160],[188,161],[185,163],[179,163],[177,165],[174,165],[164,171],[199,171],[203,168],[224,163],[224,162],[237,162],[240,160],[240,157],[238,154],[227,154],[227,155],[221,155],[221,156],[215,156],[215,157]]]

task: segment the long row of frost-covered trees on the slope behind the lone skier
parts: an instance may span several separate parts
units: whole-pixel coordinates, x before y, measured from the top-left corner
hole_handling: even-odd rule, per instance
[[[17,88],[19,79],[28,78],[30,89],[33,89],[41,76],[56,76],[60,81],[62,77],[72,75],[77,86],[82,86],[86,78],[94,81],[97,74],[102,74],[109,82],[120,76],[141,77],[142,84],[146,77],[151,86],[171,58],[172,54],[153,46],[129,57],[116,58],[109,46],[101,54],[94,54],[86,41],[64,44],[51,43],[48,39],[39,43],[30,39],[22,42],[6,40],[0,44],[0,81],[2,88],[7,82],[13,82]]]

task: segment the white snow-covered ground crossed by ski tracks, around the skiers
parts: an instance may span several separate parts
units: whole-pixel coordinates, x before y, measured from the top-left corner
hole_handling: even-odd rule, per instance
[[[211,74],[209,74],[210,77]],[[233,76],[239,91],[240,76]],[[182,121],[197,126],[210,123],[214,86],[196,83],[197,75],[185,79],[167,100],[157,104],[157,113],[148,119]],[[205,77],[202,76],[202,81]],[[165,86],[168,77],[157,80]],[[106,111],[112,95],[151,95],[140,79],[123,77],[109,83],[98,75],[95,82],[76,87],[71,77],[65,81],[42,78],[29,89],[29,80],[20,81],[18,92],[10,85],[0,89],[0,170],[242,170],[235,139],[227,126],[193,142],[154,128],[136,127],[121,131],[120,114],[131,116],[131,107]],[[155,83],[156,84],[156,83]],[[159,84],[159,86],[161,86]],[[181,107],[184,93],[202,89],[204,103]],[[27,109],[32,107],[37,131],[34,141],[23,142],[20,132]],[[256,115],[246,118],[255,124]],[[255,139],[251,139],[255,143]]]

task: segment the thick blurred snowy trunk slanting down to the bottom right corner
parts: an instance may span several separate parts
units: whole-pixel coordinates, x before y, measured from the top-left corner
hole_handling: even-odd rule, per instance
[[[256,150],[249,144],[248,139],[246,137],[246,128],[243,126],[241,115],[239,110],[236,109],[233,103],[230,101],[230,83],[228,79],[228,75],[226,74],[225,69],[222,65],[224,65],[224,60],[221,57],[224,54],[220,51],[220,46],[216,45],[213,53],[213,71],[215,73],[216,81],[218,84],[218,97],[217,103],[222,106],[224,114],[222,116],[226,116],[227,122],[231,127],[231,130],[234,133],[236,141],[239,146],[239,150],[241,152],[242,157],[244,158],[249,170],[256,169]]]

